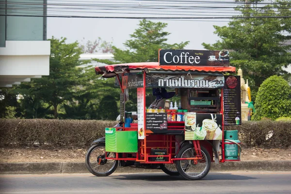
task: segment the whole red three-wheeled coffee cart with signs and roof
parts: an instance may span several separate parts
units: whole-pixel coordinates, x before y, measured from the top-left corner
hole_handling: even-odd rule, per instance
[[[228,52],[159,50],[159,62],[95,67],[120,87],[120,125],[105,129],[86,155],[88,170],[109,176],[118,166],[159,168],[168,175],[204,178],[211,162],[240,161],[240,77],[231,75]],[[227,75],[226,75],[227,74]],[[167,103],[146,108],[146,88],[167,88],[180,96],[179,110]],[[137,93],[137,123],[126,115],[128,89]]]

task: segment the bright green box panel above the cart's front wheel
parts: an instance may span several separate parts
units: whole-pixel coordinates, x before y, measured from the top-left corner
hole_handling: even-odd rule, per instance
[[[137,152],[137,131],[116,131],[115,128],[106,128],[105,150],[118,153]]]

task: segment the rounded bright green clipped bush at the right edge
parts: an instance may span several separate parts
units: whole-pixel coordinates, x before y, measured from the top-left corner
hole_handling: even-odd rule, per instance
[[[291,115],[291,87],[279,76],[271,76],[259,87],[253,120]]]

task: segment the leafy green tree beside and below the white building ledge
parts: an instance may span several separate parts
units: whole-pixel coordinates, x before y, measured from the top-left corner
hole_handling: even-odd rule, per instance
[[[79,78],[83,69],[78,66],[87,61],[79,61],[82,52],[78,42],[66,44],[66,38],[54,37],[49,40],[49,76],[22,83],[16,92],[23,95],[24,101],[29,99],[28,105],[33,105],[34,113],[38,109],[46,112],[52,107],[53,117],[58,118],[59,105],[65,100],[72,99],[73,86],[81,85]],[[38,117],[37,114],[35,115]]]

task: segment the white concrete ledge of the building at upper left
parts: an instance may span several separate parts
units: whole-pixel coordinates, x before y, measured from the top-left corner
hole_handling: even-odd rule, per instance
[[[50,41],[6,41],[0,48],[0,87],[49,75]]]

